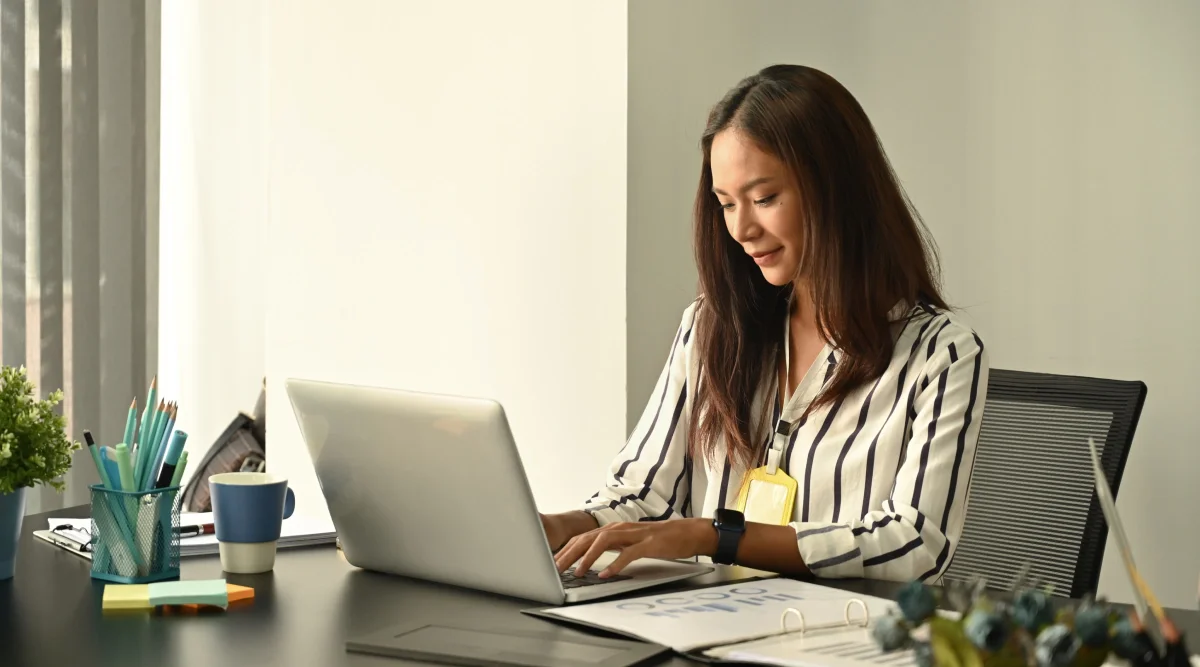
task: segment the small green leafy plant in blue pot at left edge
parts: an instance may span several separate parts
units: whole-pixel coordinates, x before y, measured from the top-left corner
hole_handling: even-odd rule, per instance
[[[0,368],[0,581],[17,565],[25,492],[38,483],[62,491],[60,477],[79,449],[54,409],[61,401],[61,391],[38,401],[24,366]]]

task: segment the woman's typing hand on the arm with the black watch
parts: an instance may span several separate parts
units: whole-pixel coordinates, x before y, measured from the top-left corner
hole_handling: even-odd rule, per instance
[[[563,572],[578,561],[576,572],[587,572],[606,551],[620,554],[600,572],[601,577],[619,573],[638,558],[691,558],[716,553],[716,529],[710,518],[677,518],[641,523],[610,523],[571,537],[554,563]]]

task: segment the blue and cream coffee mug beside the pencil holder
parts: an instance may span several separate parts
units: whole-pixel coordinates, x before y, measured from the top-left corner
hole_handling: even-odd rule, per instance
[[[238,575],[275,567],[283,519],[295,511],[288,480],[270,473],[221,473],[209,477],[221,569]]]

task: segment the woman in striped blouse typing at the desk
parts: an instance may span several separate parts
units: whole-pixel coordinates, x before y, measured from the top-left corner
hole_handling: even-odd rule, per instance
[[[716,104],[702,149],[701,296],[607,486],[542,517],[559,569],[619,551],[601,577],[703,555],[936,579],[962,531],[988,356],[940,294],[870,121],[828,74],[779,65]],[[782,481],[746,512],[775,503],[779,521],[734,511],[751,470]]]

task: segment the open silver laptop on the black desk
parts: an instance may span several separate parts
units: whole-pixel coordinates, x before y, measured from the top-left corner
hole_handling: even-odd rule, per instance
[[[640,559],[618,577],[560,576],[504,409],[496,401],[288,379],[346,559],[548,605],[619,595],[710,572]]]

